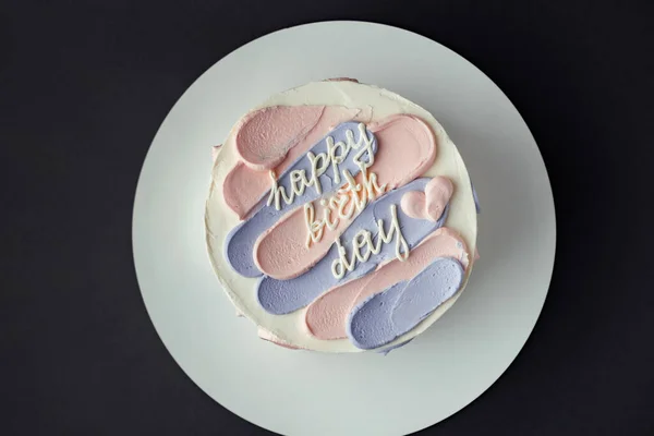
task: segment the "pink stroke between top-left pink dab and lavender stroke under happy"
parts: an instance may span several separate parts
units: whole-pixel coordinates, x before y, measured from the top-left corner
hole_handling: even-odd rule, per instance
[[[325,136],[331,126],[350,121],[360,113],[360,109],[348,109],[339,106],[326,107],[322,111],[317,123],[288,150],[284,159],[275,167],[275,172],[277,174],[282,173],[300,156],[304,155],[316,142]],[[230,209],[240,219],[243,219],[269,189],[270,175],[267,170],[257,171],[243,162],[238,162],[225,178],[222,195]]]

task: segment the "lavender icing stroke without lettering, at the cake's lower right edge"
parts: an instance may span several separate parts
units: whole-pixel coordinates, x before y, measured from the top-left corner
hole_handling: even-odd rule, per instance
[[[370,350],[391,342],[413,329],[449,300],[463,281],[463,267],[451,257],[436,258],[409,281],[400,281],[352,310],[348,337]]]

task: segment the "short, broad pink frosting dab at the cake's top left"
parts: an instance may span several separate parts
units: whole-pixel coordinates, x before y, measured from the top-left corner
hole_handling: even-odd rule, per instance
[[[237,150],[253,170],[277,167],[318,123],[324,106],[272,106],[247,113],[235,135]]]

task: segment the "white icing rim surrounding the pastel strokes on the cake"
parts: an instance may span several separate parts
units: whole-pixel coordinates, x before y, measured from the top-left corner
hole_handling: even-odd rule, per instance
[[[372,85],[354,82],[313,82],[304,86],[275,94],[261,106],[299,106],[299,105],[327,105],[346,106],[349,108],[372,108],[372,120],[382,119],[395,113],[409,113],[420,117],[434,131],[437,138],[437,154],[434,165],[425,171],[424,175],[445,175],[455,185],[455,193],[450,199],[450,210],[446,226],[458,231],[469,252],[476,250],[476,210],[470,177],[459,155],[457,147],[447,136],[443,126],[434,117],[420,106],[407,100],[399,95]],[[222,196],[222,181],[228,171],[238,160],[238,153],[233,144],[234,129],[230,132],[225,145],[220,147],[214,164],[213,180],[209,196],[206,203],[205,225],[209,257],[218,279],[225,288],[237,310],[254,322],[259,331],[279,338],[284,343],[308,350],[326,352],[361,352],[348,339],[319,340],[308,334],[304,325],[305,308],[287,315],[272,315],[261,307],[256,300],[255,286],[258,279],[241,277],[231,269],[223,255],[225,238],[228,232],[240,221],[225,203]],[[459,298],[465,288],[472,265],[467,270],[467,276],[461,290],[449,301],[440,305],[433,314],[420,323],[413,330],[402,335],[391,343],[383,347],[386,349],[404,342],[423,332],[429,325],[438,319]],[[367,350],[371,351],[371,350]],[[372,350],[376,351],[376,350]]]

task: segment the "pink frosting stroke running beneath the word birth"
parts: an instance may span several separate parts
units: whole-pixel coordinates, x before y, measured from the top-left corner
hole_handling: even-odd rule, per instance
[[[377,174],[379,185],[388,184],[387,190],[414,180],[434,164],[436,137],[429,126],[419,118],[391,116],[376,123],[371,130],[375,133],[378,145],[375,162],[370,171]],[[356,182],[362,182],[362,174],[356,177]],[[348,209],[351,202],[352,199],[348,203]],[[316,201],[314,209],[316,220],[319,220],[325,206]],[[320,241],[307,247],[304,208],[296,208],[259,237],[254,245],[254,262],[265,275],[275,279],[295,278],[327,254],[334,241],[358,215],[353,214],[350,219],[341,218],[332,230],[325,227]],[[337,211],[332,210],[331,219],[336,216]]]

